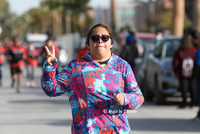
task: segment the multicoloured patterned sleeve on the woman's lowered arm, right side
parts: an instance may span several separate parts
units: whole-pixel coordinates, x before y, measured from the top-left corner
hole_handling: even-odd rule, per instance
[[[125,73],[124,108],[137,109],[144,102],[143,94],[137,84],[133,71],[128,65]]]

